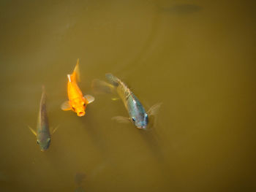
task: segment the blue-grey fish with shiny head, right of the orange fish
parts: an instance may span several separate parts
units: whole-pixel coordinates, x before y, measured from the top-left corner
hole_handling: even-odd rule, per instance
[[[116,93],[123,101],[124,107],[127,109],[127,112],[129,114],[129,118],[116,116],[113,117],[112,120],[117,120],[119,123],[128,123],[129,121],[132,121],[132,123],[137,128],[146,129],[146,127],[148,126],[148,116],[155,115],[162,103],[155,104],[146,112],[143,104],[140,103],[138,97],[135,96],[135,94],[130,90],[130,88],[128,88],[128,86],[123,81],[110,73],[105,74],[105,77],[108,80],[109,84],[108,82],[104,82],[101,80],[94,80],[92,82],[92,87],[95,91],[98,91],[99,93],[101,92],[100,90],[104,90],[106,93],[113,93],[113,90],[116,90]]]

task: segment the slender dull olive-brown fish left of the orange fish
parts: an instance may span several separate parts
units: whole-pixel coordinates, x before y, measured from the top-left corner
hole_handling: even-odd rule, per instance
[[[39,105],[39,115],[37,118],[37,131],[34,131],[31,127],[29,127],[29,129],[37,137],[37,144],[41,151],[48,150],[50,147],[51,134],[46,112],[46,94],[44,85],[42,85],[42,96]],[[53,130],[53,132],[55,131],[56,129]]]

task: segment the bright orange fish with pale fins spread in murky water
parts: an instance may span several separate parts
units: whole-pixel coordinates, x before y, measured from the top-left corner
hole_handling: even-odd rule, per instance
[[[61,110],[73,110],[79,117],[86,114],[87,104],[94,101],[94,97],[90,95],[83,96],[82,91],[78,87],[77,81],[80,81],[79,58],[72,74],[67,74],[67,95],[69,101],[61,104]]]

